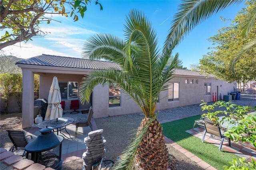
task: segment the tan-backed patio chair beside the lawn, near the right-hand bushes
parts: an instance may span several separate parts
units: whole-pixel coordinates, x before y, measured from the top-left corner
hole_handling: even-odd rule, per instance
[[[225,138],[225,136],[223,136],[223,133],[221,131],[221,127],[218,124],[214,125],[214,123],[212,121],[210,121],[210,119],[204,119],[204,128],[205,128],[205,130],[204,130],[204,134],[202,137],[202,142],[204,142],[206,132],[210,133],[211,137],[213,137],[212,135],[218,136],[221,138],[220,146],[219,146],[219,151],[220,151],[222,148],[222,143]],[[228,140],[228,146],[231,146],[230,138],[227,138],[227,140]]]

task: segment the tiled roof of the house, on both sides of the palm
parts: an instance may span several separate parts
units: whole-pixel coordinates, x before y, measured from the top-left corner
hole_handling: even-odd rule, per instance
[[[23,59],[21,61],[18,61],[16,64],[68,67],[79,69],[120,69],[118,64],[109,61],[89,60],[47,54],[38,55],[29,59]],[[174,75],[205,77],[205,75],[200,74],[198,71],[191,71],[185,69],[175,69]],[[209,77],[214,76],[209,75]]]

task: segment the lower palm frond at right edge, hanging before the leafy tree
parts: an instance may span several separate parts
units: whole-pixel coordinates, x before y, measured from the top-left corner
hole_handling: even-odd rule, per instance
[[[238,59],[244,55],[244,53],[250,51],[250,49],[256,47],[256,39],[251,40],[250,42],[246,43],[243,47],[241,47],[239,49],[239,51],[236,52],[236,54],[234,55],[234,57],[232,57],[231,61],[230,61],[230,65],[229,67],[232,69],[232,71],[234,71],[234,65],[236,64],[236,61],[238,61]]]

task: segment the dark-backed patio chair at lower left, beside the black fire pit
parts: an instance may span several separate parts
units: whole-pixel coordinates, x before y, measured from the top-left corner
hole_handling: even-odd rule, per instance
[[[15,150],[22,149],[24,150],[25,146],[28,144],[27,137],[29,136],[31,139],[33,138],[31,135],[25,135],[23,130],[6,130],[8,132],[8,136],[12,141],[12,147],[9,151],[14,152]],[[26,151],[24,150],[22,156],[26,155]]]

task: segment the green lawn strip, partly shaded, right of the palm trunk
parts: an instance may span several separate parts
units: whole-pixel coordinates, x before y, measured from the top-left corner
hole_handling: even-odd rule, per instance
[[[202,143],[200,138],[185,132],[185,130],[191,129],[194,125],[194,121],[196,119],[200,119],[200,117],[200,115],[197,115],[177,121],[163,123],[162,127],[164,135],[208,164],[212,165],[214,168],[223,170],[224,165],[230,166],[228,162],[231,162],[232,158],[240,157],[223,149],[220,152],[218,150],[218,146],[210,144],[206,141]]]

